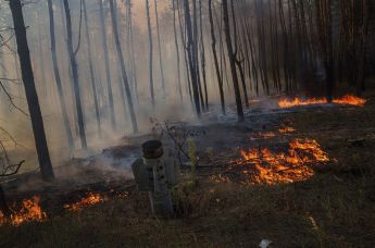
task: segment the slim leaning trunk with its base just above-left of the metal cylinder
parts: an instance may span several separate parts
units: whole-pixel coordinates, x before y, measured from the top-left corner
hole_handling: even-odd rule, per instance
[[[121,72],[122,72],[123,79],[124,79],[124,87],[125,87],[125,92],[126,92],[126,97],[127,97],[129,114],[130,114],[130,119],[132,119],[133,132],[134,133],[138,133],[137,116],[136,116],[136,113],[134,111],[134,104],[133,104],[133,99],[132,99],[130,86],[129,86],[129,83],[128,83],[128,79],[127,79],[127,74],[126,74],[126,70],[125,70],[124,55],[123,55],[123,51],[122,51],[121,44],[120,44],[117,20],[116,20],[116,15],[115,15],[115,9],[114,9],[113,1],[114,0],[110,0],[113,36],[114,36],[114,41],[115,41],[115,46],[116,46],[116,50],[117,50],[117,59],[118,59],[118,62],[120,62],[120,67],[121,67]]]

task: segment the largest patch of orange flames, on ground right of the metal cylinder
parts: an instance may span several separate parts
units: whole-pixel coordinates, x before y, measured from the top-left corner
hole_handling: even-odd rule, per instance
[[[254,164],[243,170],[251,184],[272,185],[304,181],[314,175],[309,164],[329,161],[328,154],[312,139],[290,141],[287,153],[262,148],[241,149],[240,154],[242,158],[236,161],[237,165]]]

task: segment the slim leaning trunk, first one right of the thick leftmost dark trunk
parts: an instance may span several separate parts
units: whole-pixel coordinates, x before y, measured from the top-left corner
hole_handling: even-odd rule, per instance
[[[48,11],[49,11],[49,17],[50,17],[50,38],[51,38],[52,66],[53,66],[54,79],[55,79],[58,92],[59,92],[60,108],[61,108],[61,113],[62,113],[63,123],[64,123],[64,127],[65,127],[67,144],[68,144],[68,148],[70,148],[70,154],[72,156],[73,151],[74,151],[74,139],[73,139],[71,124],[68,121],[66,102],[65,102],[65,98],[64,98],[64,89],[63,89],[63,86],[61,83],[59,64],[58,64],[52,0],[48,0]]]

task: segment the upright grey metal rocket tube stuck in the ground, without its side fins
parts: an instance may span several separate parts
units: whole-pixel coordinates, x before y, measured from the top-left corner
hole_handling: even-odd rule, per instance
[[[166,179],[163,145],[158,140],[150,140],[142,145],[142,149],[150,188],[153,189],[150,191],[152,212],[158,215],[171,215],[173,214],[173,203]]]

